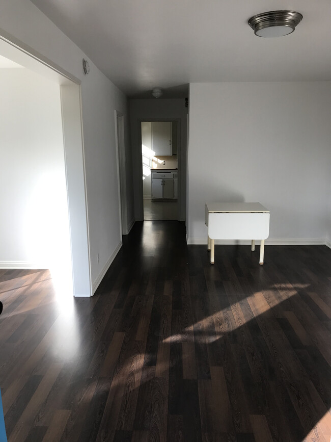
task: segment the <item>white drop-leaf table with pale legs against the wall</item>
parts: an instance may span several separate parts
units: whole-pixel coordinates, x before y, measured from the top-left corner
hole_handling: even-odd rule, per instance
[[[269,236],[270,211],[259,202],[207,202],[206,226],[210,263],[215,262],[214,240],[261,240],[260,264],[263,264],[264,240]]]

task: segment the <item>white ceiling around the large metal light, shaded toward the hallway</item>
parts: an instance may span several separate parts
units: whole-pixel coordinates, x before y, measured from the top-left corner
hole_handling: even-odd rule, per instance
[[[130,97],[154,87],[185,96],[194,82],[331,80],[329,0],[31,1]],[[304,18],[288,36],[256,37],[247,20],[278,9]]]

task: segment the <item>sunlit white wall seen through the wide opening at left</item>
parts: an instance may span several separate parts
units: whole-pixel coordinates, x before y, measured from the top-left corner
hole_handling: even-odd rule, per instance
[[[70,277],[60,86],[27,69],[0,69],[0,96],[0,267]]]

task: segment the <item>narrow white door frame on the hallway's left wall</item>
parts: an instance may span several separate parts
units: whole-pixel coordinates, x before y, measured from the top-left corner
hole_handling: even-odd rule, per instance
[[[119,215],[122,235],[128,235],[127,197],[126,197],[126,155],[124,144],[124,115],[115,111],[115,140],[117,160],[117,180],[119,192]]]

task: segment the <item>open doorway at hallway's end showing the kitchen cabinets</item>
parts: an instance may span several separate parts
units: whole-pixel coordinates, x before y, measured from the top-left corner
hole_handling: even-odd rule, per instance
[[[178,219],[178,122],[142,121],[144,220]]]

